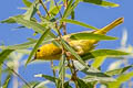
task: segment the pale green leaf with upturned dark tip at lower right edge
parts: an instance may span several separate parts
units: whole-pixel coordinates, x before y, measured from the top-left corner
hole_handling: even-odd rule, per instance
[[[126,72],[127,69],[130,69],[131,67],[133,67],[133,65],[130,65],[130,66],[126,66],[126,67],[123,67],[123,68],[117,68],[117,69],[109,70],[109,72],[105,72],[105,74],[108,74],[110,76],[121,75],[124,72]]]

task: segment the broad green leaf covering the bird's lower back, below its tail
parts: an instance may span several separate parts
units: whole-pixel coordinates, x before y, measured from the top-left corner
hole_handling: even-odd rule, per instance
[[[117,40],[116,37],[94,34],[94,33],[75,33],[70,36],[72,40]]]

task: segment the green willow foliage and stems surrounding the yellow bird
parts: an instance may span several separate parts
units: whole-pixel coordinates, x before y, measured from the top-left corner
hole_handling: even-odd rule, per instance
[[[109,68],[106,72],[101,70],[102,64],[105,59],[115,58],[116,61],[127,61],[127,56],[132,56],[132,51],[129,51],[132,48],[132,46],[125,47],[125,43],[123,43],[126,38],[123,38],[124,41],[122,40],[122,50],[92,50],[88,54],[80,56],[76,54],[75,50],[73,50],[66,43],[66,41],[62,38],[60,32],[63,30],[63,34],[66,34],[66,23],[72,23],[94,31],[99,30],[95,26],[74,20],[74,10],[78,4],[80,4],[80,2],[92,3],[105,8],[116,8],[119,7],[117,3],[109,2],[105,0],[47,0],[44,2],[42,0],[34,0],[33,2],[30,2],[29,0],[22,1],[25,6],[25,13],[10,16],[9,19],[1,21],[1,23],[21,24],[23,28],[34,31],[34,34],[40,34],[40,38],[29,38],[28,42],[22,44],[0,46],[0,76],[2,76],[4,73],[8,74],[6,80],[0,81],[3,82],[0,84],[0,86],[7,88],[9,82],[13,80],[11,76],[16,75],[24,82],[22,88],[47,88],[47,84],[54,84],[57,88],[72,88],[73,84],[75,88],[94,88],[98,84],[105,85],[108,88],[120,88],[123,82],[130,80],[133,77],[133,72],[129,72],[133,65],[119,67],[116,69],[114,66],[114,68]],[[45,4],[49,3],[50,7],[47,7]],[[45,11],[44,15],[41,14],[41,7]],[[39,15],[39,18],[35,15]],[[39,22],[38,19],[40,19],[41,22]],[[125,34],[123,36],[125,36]],[[59,41],[57,41],[57,37],[59,37]],[[71,38],[99,41],[116,40],[116,37],[113,36],[99,35],[93,33],[76,33],[72,35]],[[58,66],[53,66],[53,61],[51,62],[53,76],[39,74],[34,75],[34,77],[41,77],[47,80],[27,81],[16,72],[16,68],[19,68],[19,61],[22,59],[22,57],[27,54],[29,57],[24,64],[30,64],[38,47],[49,42],[53,42],[58,46],[62,47],[64,52],[62,53],[62,57],[61,61],[59,61]],[[29,50],[31,47],[32,51]],[[126,50],[126,52],[123,50]],[[68,59],[66,52],[70,52],[78,61]],[[89,65],[86,64],[88,61],[93,61],[93,63]],[[111,65],[115,64],[116,63],[113,63]],[[123,62],[120,63],[120,65],[122,64]],[[7,67],[3,68],[2,65]],[[66,74],[66,70],[69,69],[71,70],[71,74]],[[80,77],[78,76],[78,73],[83,73],[85,76]],[[116,78],[114,76],[116,76]],[[16,84],[19,84],[19,81]]]

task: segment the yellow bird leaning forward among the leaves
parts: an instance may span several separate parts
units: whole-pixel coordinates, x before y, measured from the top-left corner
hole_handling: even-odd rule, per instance
[[[103,29],[93,31],[92,33],[106,34],[110,30],[112,30],[116,25],[123,23],[123,21],[124,18],[119,18],[109,25],[104,26]],[[80,32],[80,33],[84,33],[84,32]],[[72,34],[64,35],[62,36],[62,38],[65,40],[68,44],[70,44],[70,46],[74,48],[79,55],[89,53],[89,51],[94,47],[94,44],[99,42],[98,40],[71,40],[70,38],[71,35]],[[53,43],[44,44],[35,53],[34,59],[45,59],[45,61],[60,59],[61,54],[62,54],[61,47],[55,46]]]

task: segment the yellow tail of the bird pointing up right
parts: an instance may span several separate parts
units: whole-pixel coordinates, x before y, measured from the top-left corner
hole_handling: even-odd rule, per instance
[[[95,31],[95,34],[106,34],[110,30],[112,30],[113,28],[117,26],[119,24],[124,22],[124,18],[119,18],[115,21],[113,21],[112,23],[108,24],[106,26],[104,26],[103,29]]]

